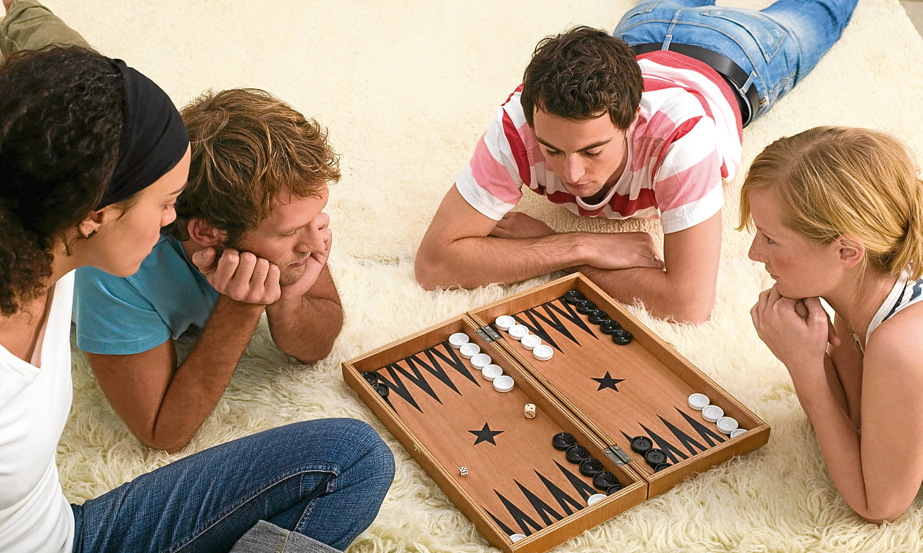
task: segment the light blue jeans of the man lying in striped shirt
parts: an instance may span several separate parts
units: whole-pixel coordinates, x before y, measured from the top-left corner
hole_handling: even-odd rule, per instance
[[[630,45],[692,44],[724,54],[760,94],[753,119],[766,114],[833,46],[857,0],[778,0],[760,11],[715,6],[714,0],[641,0],[613,36]]]

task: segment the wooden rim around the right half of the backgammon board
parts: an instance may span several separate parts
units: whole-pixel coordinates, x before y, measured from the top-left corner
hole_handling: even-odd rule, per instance
[[[679,482],[692,475],[702,473],[713,466],[749,451],[754,451],[769,441],[770,427],[764,423],[757,415],[754,415],[747,407],[737,400],[721,386],[701,372],[697,367],[689,363],[682,355],[679,355],[668,343],[665,343],[653,331],[649,330],[638,319],[635,319],[617,302],[612,300],[599,287],[593,284],[588,278],[580,272],[573,273],[569,276],[557,279],[551,283],[535,287],[518,295],[512,295],[508,298],[497,301],[489,306],[482,307],[470,313],[475,324],[486,326],[493,322],[500,315],[513,315],[527,308],[534,307],[546,301],[558,298],[569,290],[579,290],[587,299],[593,301],[598,308],[601,308],[610,314],[610,317],[617,319],[622,328],[631,332],[634,341],[639,343],[647,352],[653,355],[665,367],[671,370],[683,382],[695,391],[707,395],[713,404],[720,406],[725,415],[733,416],[740,423],[741,427],[748,428],[748,432],[737,437],[728,439],[724,443],[714,446],[709,451],[698,455],[693,455],[685,461],[676,463],[659,473],[648,475],[640,468],[636,468],[636,473],[649,483],[648,497],[653,498],[664,493],[671,487],[676,486]],[[593,419],[574,405],[561,391],[557,390],[541,371],[541,363],[527,359],[520,354],[515,348],[511,347],[505,340],[498,341],[507,351],[508,355],[521,364],[530,375],[541,382],[547,391],[550,391],[561,403],[567,405],[573,415],[581,420],[586,426],[591,427],[598,439],[606,444],[616,443],[615,439],[606,436],[605,432],[593,422]],[[642,463],[638,460],[638,455],[632,456],[633,461],[629,466],[635,463]]]

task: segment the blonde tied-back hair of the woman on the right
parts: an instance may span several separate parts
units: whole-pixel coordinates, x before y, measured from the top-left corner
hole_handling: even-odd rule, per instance
[[[923,181],[893,136],[848,126],[815,126],[779,138],[750,165],[740,190],[740,225],[752,225],[749,195],[775,190],[785,226],[820,244],[860,240],[863,263],[898,278],[923,274]]]

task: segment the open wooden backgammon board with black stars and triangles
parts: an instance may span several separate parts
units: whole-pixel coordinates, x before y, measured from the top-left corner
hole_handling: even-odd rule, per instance
[[[613,343],[561,299],[569,290],[605,310],[633,341]],[[492,325],[500,315],[530,327],[555,348],[554,356],[537,361]],[[447,342],[454,332],[465,332],[490,355],[515,380],[513,390],[495,391]],[[377,372],[387,398],[364,371]],[[508,553],[557,547],[690,475],[761,447],[770,432],[580,273],[347,361],[343,378],[487,540]],[[748,431],[735,439],[722,434],[689,407],[693,392],[706,394]],[[523,415],[526,403],[536,405],[534,418]],[[552,447],[562,431],[626,487],[587,506],[601,491]],[[672,466],[654,473],[630,450],[638,435],[653,439]],[[527,537],[514,543],[513,534]]]

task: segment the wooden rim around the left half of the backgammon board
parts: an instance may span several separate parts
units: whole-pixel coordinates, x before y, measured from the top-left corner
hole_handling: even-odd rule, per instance
[[[417,354],[427,347],[447,340],[450,334],[463,331],[472,337],[473,342],[478,343],[482,351],[488,353],[497,365],[503,367],[506,374],[513,377],[516,386],[529,396],[539,411],[554,420],[558,427],[572,434],[578,443],[585,445],[591,452],[605,449],[606,444],[598,438],[596,432],[584,425],[568,407],[560,403],[544,386],[533,379],[532,375],[521,367],[499,343],[486,343],[478,336],[477,328],[475,321],[467,315],[450,319],[401,341],[390,343],[366,355],[344,362],[342,364],[343,379],[378,416],[378,420],[401,442],[404,449],[436,481],[452,502],[474,523],[487,541],[507,553],[544,553],[580,535],[585,530],[605,523],[618,513],[646,499],[649,487],[647,482],[627,466],[618,466],[605,455],[597,454],[594,456],[604,464],[605,470],[616,474],[622,482],[628,481],[630,484],[616,494],[566,516],[525,539],[516,543],[509,539],[509,535],[492,520],[487,511],[466,490],[465,484],[461,481],[462,478],[456,475],[457,469],[439,463],[437,457],[426,448],[424,440],[414,434],[361,375],[366,370],[377,370],[402,360],[408,355]]]

